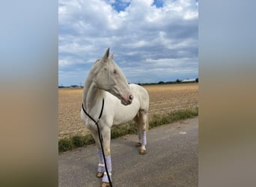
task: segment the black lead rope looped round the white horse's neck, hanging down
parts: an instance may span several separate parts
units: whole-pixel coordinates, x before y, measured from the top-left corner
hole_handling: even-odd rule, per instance
[[[103,137],[100,133],[100,127],[98,125],[98,122],[100,120],[100,117],[102,116],[103,114],[103,108],[104,108],[104,98],[103,98],[103,105],[101,107],[101,111],[100,111],[100,116],[98,117],[98,120],[94,120],[93,117],[91,117],[86,111],[85,111],[85,108],[84,108],[84,104],[82,103],[82,110],[85,112],[86,115],[88,115],[88,117],[90,117],[91,120],[94,121],[95,125],[97,126],[97,129],[98,129],[98,135],[99,135],[99,139],[100,139],[100,147],[101,147],[101,150],[103,150],[103,160],[104,160],[104,164],[105,164],[105,170],[106,170],[106,174],[108,176],[108,179],[109,179],[109,185],[112,187],[112,181],[110,180],[110,176],[109,176],[109,171],[108,171],[108,168],[106,166],[106,158],[105,158],[105,153],[104,153],[104,149],[103,149]]]

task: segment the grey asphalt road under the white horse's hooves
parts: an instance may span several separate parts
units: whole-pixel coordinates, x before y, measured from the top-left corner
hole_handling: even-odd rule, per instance
[[[147,154],[139,155],[136,135],[112,140],[112,180],[121,186],[198,186],[198,117],[147,132]],[[58,156],[58,186],[100,186],[97,147]]]

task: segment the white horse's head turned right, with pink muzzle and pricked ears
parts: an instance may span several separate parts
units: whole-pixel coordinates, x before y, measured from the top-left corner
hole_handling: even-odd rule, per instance
[[[123,105],[129,105],[133,99],[132,92],[124,73],[115,64],[113,58],[114,54],[109,56],[109,49],[107,49],[103,58],[95,62],[97,65],[96,84],[100,89],[117,96]]]

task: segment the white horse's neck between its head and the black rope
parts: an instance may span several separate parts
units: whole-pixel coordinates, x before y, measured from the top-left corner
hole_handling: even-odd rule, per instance
[[[103,99],[103,90],[100,90],[96,83],[89,77],[84,86],[83,90],[83,104],[85,109],[89,112],[91,108],[97,105],[97,102],[102,102]]]

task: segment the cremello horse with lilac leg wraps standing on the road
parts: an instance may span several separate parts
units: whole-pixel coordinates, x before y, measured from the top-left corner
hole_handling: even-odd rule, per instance
[[[122,73],[118,65],[115,64],[113,57],[113,54],[109,56],[109,49],[107,49],[103,58],[94,63],[88,74],[82,93],[82,103],[85,111],[95,120],[98,120],[103,105],[103,99],[105,101],[103,114],[98,124],[103,137],[106,167],[109,174],[112,172],[110,156],[111,127],[113,125],[127,123],[132,119],[135,120],[138,125],[138,143],[136,146],[141,147],[139,153],[143,155],[146,153],[147,113],[149,109],[149,96],[147,91],[139,85],[128,85],[124,73]],[[81,118],[90,130],[97,144],[97,153],[99,156],[97,177],[103,177],[101,186],[109,186],[97,126],[82,109]]]

